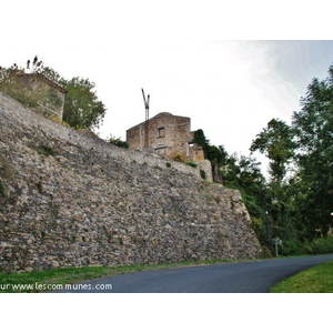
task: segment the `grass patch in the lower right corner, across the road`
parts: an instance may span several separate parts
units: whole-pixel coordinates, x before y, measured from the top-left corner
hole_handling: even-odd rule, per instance
[[[333,262],[322,263],[283,280],[271,293],[333,293]]]

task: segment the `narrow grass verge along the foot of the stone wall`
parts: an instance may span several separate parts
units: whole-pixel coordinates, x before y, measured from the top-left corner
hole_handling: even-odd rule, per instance
[[[118,275],[140,271],[169,270],[191,265],[204,265],[231,262],[230,260],[185,261],[170,264],[64,268],[29,273],[0,273],[0,292],[48,292],[62,290],[65,284],[79,283],[108,275]]]

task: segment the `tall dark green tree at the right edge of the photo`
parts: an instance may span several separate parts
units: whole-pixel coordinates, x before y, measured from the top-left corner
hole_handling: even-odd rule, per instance
[[[301,186],[299,209],[307,236],[326,236],[333,225],[333,65],[322,81],[313,79],[293,113]]]

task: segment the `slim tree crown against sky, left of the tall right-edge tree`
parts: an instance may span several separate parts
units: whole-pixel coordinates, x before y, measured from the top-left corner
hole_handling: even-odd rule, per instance
[[[272,119],[252,141],[251,152],[260,151],[270,159],[270,174],[276,184],[281,184],[287,164],[294,155],[293,131],[284,121]]]

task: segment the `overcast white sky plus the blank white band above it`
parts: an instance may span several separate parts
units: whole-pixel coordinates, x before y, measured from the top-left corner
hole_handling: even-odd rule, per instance
[[[38,54],[67,79],[95,82],[108,108],[102,138],[125,140],[125,130],[144,121],[143,88],[151,95],[151,117],[190,117],[192,130],[202,129],[212,144],[249,155],[262,128],[272,118],[290,123],[307,84],[325,78],[333,63],[333,41],[306,40],[327,38],[326,32],[297,31],[313,12],[295,2],[294,8],[287,1],[268,8],[258,0],[228,7],[216,7],[219,1],[203,7],[180,0],[159,6],[148,0],[117,6],[12,0],[1,6],[0,65],[24,65]],[[299,13],[297,3],[305,12],[292,16]],[[256,8],[275,14],[263,16]],[[322,7],[319,24],[325,21],[323,12]],[[278,33],[269,23],[279,24]],[[324,26],[322,31],[327,31]],[[224,40],[216,41],[220,36]],[[279,41],[289,37],[302,40]]]

